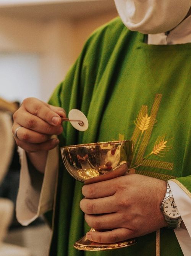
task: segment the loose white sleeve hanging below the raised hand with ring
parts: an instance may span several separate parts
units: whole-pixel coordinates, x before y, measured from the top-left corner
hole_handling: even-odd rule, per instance
[[[26,153],[18,148],[21,173],[16,200],[16,218],[27,226],[39,215],[52,210],[58,176],[58,147],[49,151],[44,175],[29,173]],[[35,176],[35,177],[34,177]]]

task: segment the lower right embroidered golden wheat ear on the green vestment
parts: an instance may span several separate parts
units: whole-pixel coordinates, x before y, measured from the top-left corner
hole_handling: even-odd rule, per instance
[[[159,157],[163,157],[166,152],[168,152],[170,149],[172,149],[172,146],[167,146],[168,140],[165,140],[165,135],[158,136],[154,147],[149,155],[158,155]],[[147,157],[149,157],[149,155]],[[146,158],[146,157],[145,157]]]

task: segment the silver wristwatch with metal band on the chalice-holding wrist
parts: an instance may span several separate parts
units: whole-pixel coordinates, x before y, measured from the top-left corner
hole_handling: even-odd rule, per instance
[[[160,208],[162,210],[163,215],[165,216],[165,220],[167,221],[168,228],[180,228],[180,223],[182,221],[182,218],[176,207],[176,203],[173,198],[168,182],[167,182],[167,193],[165,194],[165,198],[162,201]]]

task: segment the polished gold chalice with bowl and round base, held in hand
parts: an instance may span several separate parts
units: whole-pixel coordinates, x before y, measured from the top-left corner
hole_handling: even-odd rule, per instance
[[[133,158],[133,142],[120,140],[61,147],[62,159],[68,172],[86,184],[108,180],[125,175]],[[94,228],[91,228],[94,232]],[[74,248],[83,251],[117,249],[136,243],[136,239],[102,244],[83,236]]]

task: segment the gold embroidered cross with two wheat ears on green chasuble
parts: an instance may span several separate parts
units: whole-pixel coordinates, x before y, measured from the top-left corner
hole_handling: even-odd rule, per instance
[[[154,124],[157,122],[156,117],[159,111],[160,102],[162,100],[162,94],[156,94],[154,103],[152,104],[151,112],[148,116],[147,114],[147,106],[142,105],[141,110],[138,113],[138,117],[136,121],[134,121],[135,129],[133,131],[133,135],[131,139],[134,141],[134,145],[136,145],[136,149],[134,150],[133,160],[131,163],[131,168],[133,165],[138,167],[139,165],[152,167],[152,168],[161,168],[165,170],[172,170],[173,163],[164,162],[159,160],[147,159],[150,155],[155,156],[164,156],[168,150],[172,149],[171,146],[168,146],[169,140],[165,139],[165,136],[160,136],[157,138],[157,141],[154,144],[152,152],[144,157],[144,153],[147,145],[149,144],[152,130],[154,128]],[[167,141],[167,142],[166,142]],[[155,154],[154,154],[155,153]],[[135,160],[134,160],[135,159]]]

